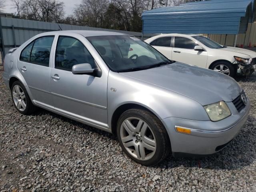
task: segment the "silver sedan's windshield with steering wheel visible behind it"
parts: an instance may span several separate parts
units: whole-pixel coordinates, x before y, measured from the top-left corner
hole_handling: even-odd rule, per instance
[[[172,63],[142,40],[125,35],[87,37],[114,72],[144,70]]]

